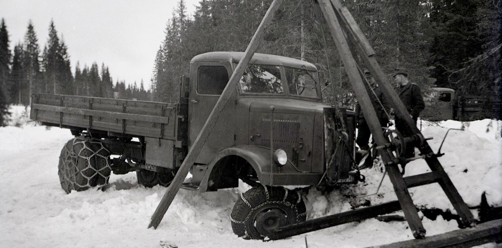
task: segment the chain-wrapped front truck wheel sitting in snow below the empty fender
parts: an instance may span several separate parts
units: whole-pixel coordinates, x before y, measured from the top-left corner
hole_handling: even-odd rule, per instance
[[[237,236],[263,239],[279,226],[305,221],[302,197],[283,187],[257,186],[240,195],[230,220]]]

